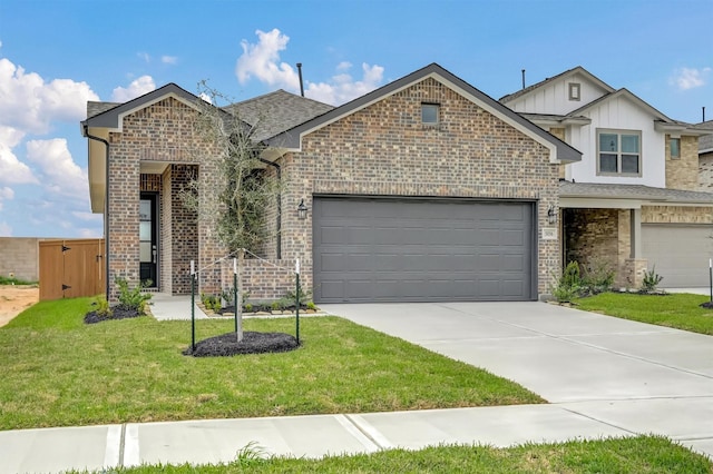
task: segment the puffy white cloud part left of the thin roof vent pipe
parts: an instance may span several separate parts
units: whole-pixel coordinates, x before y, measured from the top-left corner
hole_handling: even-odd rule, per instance
[[[235,67],[237,80],[245,83],[255,77],[270,86],[299,90],[297,72],[286,62],[277,63],[280,51],[287,48],[290,37],[282,34],[276,28],[270,32],[257,30],[255,34],[257,34],[257,45],[251,45],[247,40],[241,41],[243,55],[237,59]]]

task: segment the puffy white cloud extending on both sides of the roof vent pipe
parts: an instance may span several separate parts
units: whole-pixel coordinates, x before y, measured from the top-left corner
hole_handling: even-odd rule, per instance
[[[286,62],[280,61],[280,52],[287,49],[290,37],[273,29],[270,32],[257,30],[257,43],[243,40],[243,55],[237,59],[235,75],[241,83],[255,78],[272,87],[284,88],[296,92],[300,90],[297,71]],[[362,65],[362,78],[354,80],[349,73],[352,65],[342,61],[336,66],[338,75],[328,82],[305,83],[305,95],[322,102],[339,105],[379,87],[383,79],[381,66]]]

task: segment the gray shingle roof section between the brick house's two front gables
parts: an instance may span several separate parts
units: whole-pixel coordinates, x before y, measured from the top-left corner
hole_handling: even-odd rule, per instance
[[[282,89],[224,107],[229,113],[256,127],[253,138],[257,141],[274,137],[333,108]]]

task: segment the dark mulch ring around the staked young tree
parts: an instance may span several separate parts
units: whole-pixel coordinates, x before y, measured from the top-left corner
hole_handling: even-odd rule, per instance
[[[297,339],[289,334],[246,330],[243,333],[243,340],[240,343],[235,333],[226,333],[196,343],[195,350],[188,347],[183,352],[183,355],[225,357],[238,354],[286,353],[297,347],[300,347]]]

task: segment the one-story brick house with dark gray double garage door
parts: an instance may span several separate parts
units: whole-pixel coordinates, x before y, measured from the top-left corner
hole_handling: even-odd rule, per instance
[[[150,276],[158,290],[186,294],[189,261],[204,268],[225,255],[211,221],[198,225],[177,197],[191,177],[202,203],[218,188],[201,158],[213,144],[191,131],[196,100],[168,85],[88,106],[107,282]],[[531,300],[561,268],[558,174],[580,154],[438,65],[338,108],[279,91],[225,111],[260,119],[264,172],[284,184],[268,210],[268,261],[248,259],[241,274],[253,298],[290,288],[293,275],[275,265],[295,259],[322,303]],[[202,271],[201,290],[222,280],[219,269]]]

